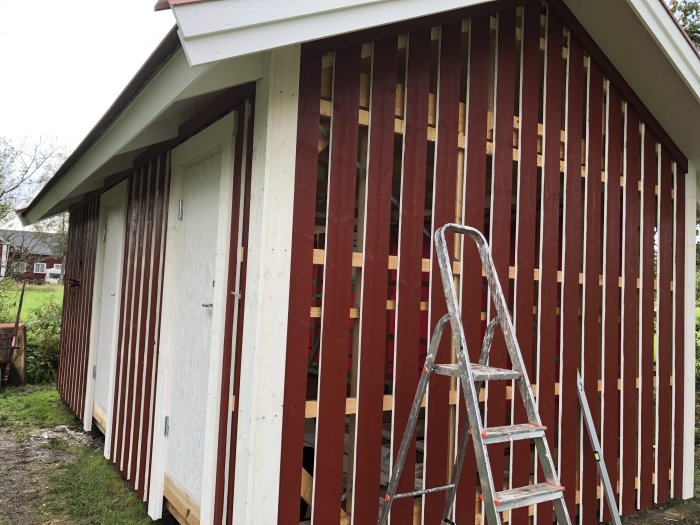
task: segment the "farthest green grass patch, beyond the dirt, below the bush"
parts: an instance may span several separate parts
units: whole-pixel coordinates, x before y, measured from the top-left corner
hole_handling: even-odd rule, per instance
[[[0,390],[0,429],[24,435],[38,428],[74,425],[76,419],[53,385]]]

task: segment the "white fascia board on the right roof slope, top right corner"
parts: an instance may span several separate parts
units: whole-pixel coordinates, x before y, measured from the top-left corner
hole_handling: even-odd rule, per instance
[[[700,101],[700,59],[659,0],[627,0]]]

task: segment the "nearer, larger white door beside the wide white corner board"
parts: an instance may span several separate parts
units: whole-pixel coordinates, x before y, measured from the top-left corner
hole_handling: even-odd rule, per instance
[[[171,155],[150,501],[162,501],[166,476],[196,502],[206,485],[208,401],[220,388],[210,366],[220,367],[222,346],[233,122],[222,119]]]

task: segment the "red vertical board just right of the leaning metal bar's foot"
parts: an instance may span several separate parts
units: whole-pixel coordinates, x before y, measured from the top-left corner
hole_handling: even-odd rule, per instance
[[[639,361],[639,189],[641,182],[641,137],[639,117],[627,106],[625,137],[625,202],[622,301],[622,514],[637,507],[637,362]],[[607,461],[606,461],[607,463]]]

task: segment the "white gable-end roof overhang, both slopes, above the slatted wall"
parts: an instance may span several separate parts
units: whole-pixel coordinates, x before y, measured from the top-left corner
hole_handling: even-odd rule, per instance
[[[663,0],[563,3],[689,160],[700,161],[700,57]],[[169,0],[191,64],[309,42],[484,0]]]

